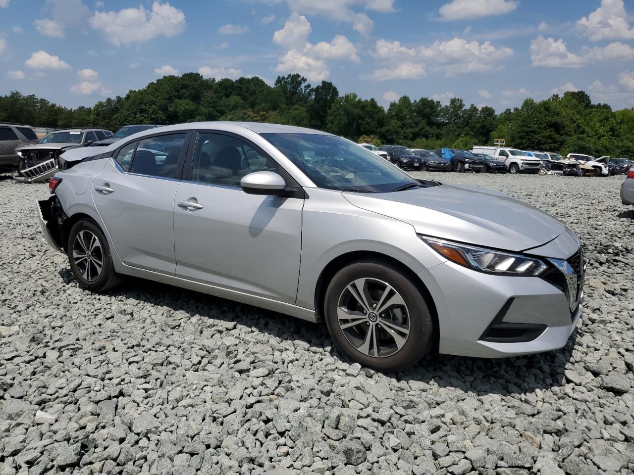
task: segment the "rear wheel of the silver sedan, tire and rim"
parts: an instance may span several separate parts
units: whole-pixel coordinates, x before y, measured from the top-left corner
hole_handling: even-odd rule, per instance
[[[82,289],[101,292],[119,284],[108,241],[93,221],[75,223],[68,235],[67,250],[70,270]]]

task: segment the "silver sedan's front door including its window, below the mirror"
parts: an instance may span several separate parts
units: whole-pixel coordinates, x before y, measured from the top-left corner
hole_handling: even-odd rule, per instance
[[[301,255],[301,198],[246,194],[243,176],[280,172],[242,139],[202,132],[191,181],[174,202],[176,276],[295,303]]]

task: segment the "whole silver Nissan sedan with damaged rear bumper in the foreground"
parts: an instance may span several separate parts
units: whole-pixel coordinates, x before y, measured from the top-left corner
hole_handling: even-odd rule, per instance
[[[342,353],[385,372],[436,345],[555,350],[578,322],[579,239],[506,194],[417,181],[285,125],[171,125],[96,152],[39,201],[84,289],[137,276],[325,322]]]

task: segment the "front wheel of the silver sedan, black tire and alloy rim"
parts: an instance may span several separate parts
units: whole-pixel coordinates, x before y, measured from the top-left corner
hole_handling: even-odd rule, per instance
[[[434,323],[420,289],[389,263],[358,261],[341,269],[324,308],[339,350],[365,367],[398,372],[433,346]]]

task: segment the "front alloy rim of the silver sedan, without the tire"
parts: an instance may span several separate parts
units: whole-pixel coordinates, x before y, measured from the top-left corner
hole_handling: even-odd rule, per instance
[[[347,341],[370,357],[398,353],[410,336],[410,313],[403,297],[378,279],[350,282],[339,296],[337,320]]]

